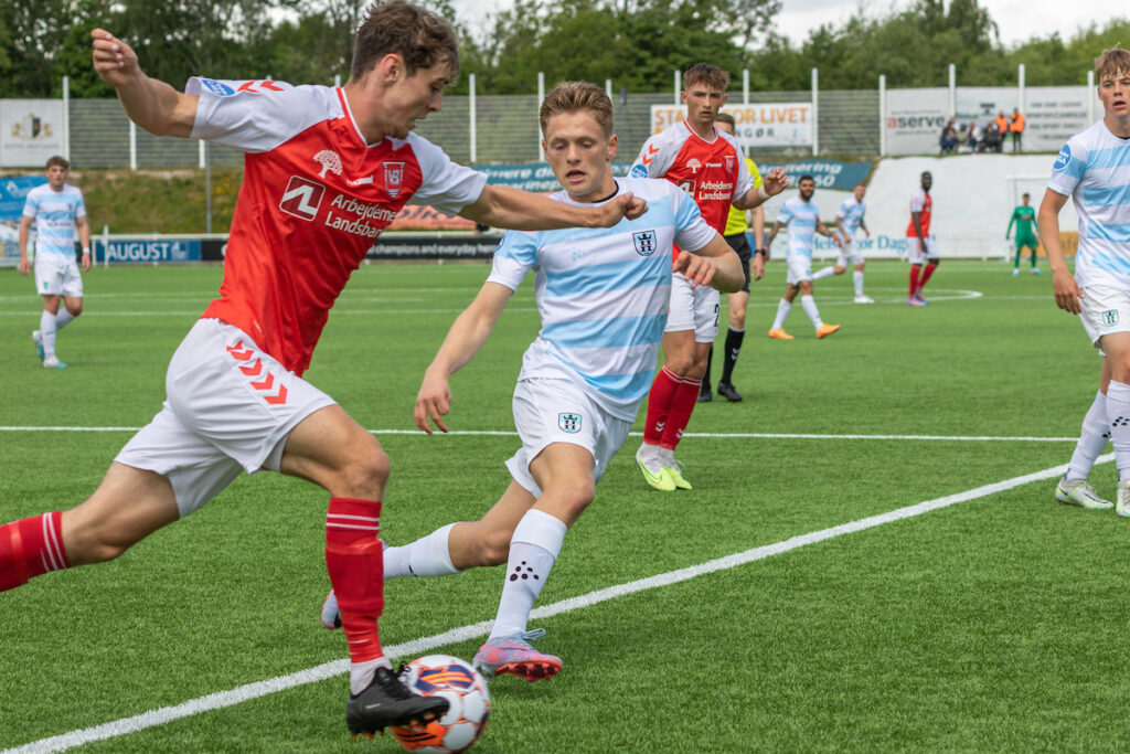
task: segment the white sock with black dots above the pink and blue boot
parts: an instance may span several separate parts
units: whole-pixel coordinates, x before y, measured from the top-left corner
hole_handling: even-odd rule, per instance
[[[518,522],[510,539],[506,581],[490,639],[525,631],[530,610],[557,560],[566,531],[568,527],[564,521],[534,509],[527,511]]]

